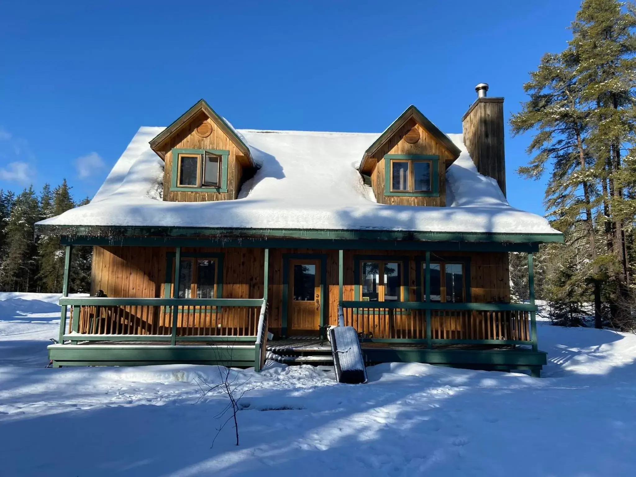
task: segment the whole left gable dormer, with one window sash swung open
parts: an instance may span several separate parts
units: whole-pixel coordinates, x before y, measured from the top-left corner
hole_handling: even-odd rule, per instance
[[[233,200],[254,169],[247,144],[203,99],[150,147],[165,163],[163,200],[169,202]]]

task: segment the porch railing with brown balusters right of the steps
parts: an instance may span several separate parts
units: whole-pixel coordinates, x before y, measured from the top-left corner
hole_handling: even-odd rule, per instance
[[[536,347],[536,308],[525,303],[343,301],[342,309],[366,341]]]

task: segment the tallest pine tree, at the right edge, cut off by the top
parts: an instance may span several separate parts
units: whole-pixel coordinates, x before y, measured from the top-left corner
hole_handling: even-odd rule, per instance
[[[636,12],[616,0],[584,0],[572,24],[569,42],[576,56],[581,98],[590,104],[588,144],[603,191],[604,230],[609,272],[619,293],[630,284],[626,229],[633,226],[635,205],[626,189],[625,149],[636,137]]]

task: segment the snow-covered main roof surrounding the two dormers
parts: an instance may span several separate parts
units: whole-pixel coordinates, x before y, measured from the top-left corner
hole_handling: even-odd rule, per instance
[[[356,169],[379,134],[238,130],[261,165],[237,200],[164,202],[163,161],[142,127],[93,200],[44,226],[153,226],[558,234],[548,221],[511,207],[497,182],[479,174],[461,134],[446,171],[446,207],[377,204]]]

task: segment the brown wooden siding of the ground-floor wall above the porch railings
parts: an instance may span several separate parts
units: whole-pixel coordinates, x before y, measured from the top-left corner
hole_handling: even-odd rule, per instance
[[[169,247],[95,247],[93,252],[92,293],[103,290],[112,298],[164,298],[166,253]],[[223,254],[223,296],[218,298],[263,297],[263,249],[256,248],[190,248],[186,252]],[[283,312],[283,255],[322,254],[326,256],[326,284],[323,296],[327,324],[338,322],[338,251],[315,249],[270,249],[269,327],[280,332]],[[404,251],[345,251],[345,301],[354,300],[354,256],[403,256],[408,258],[408,283],[404,284],[404,298],[419,301],[417,288],[417,260],[424,261],[424,252]],[[505,252],[434,252],[432,261],[465,257],[470,263],[471,301],[478,303],[507,303],[510,301],[508,254]],[[291,256],[290,256],[291,257]],[[293,258],[293,257],[291,257]],[[407,298],[408,297],[408,298]],[[244,310],[231,310],[230,321],[239,322]],[[207,318],[206,318],[207,319]]]

